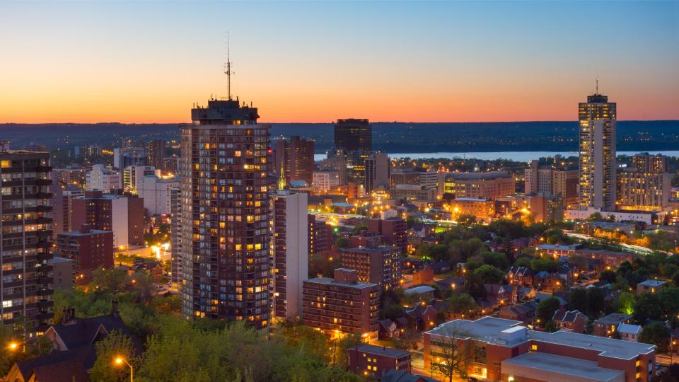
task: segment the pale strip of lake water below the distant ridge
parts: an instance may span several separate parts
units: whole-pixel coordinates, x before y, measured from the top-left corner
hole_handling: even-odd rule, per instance
[[[679,156],[679,151],[648,151],[649,154],[663,154],[666,156]],[[639,154],[639,151],[617,151],[617,155],[634,155]],[[426,159],[426,158],[446,158],[446,159],[468,159],[475,158],[483,161],[492,161],[494,159],[511,159],[512,161],[529,162],[533,159],[538,159],[547,156],[577,156],[577,151],[489,151],[489,152],[468,152],[468,153],[411,153],[411,154],[389,154],[389,158],[411,158],[411,159]],[[325,159],[326,154],[315,154],[313,159],[321,161]]]

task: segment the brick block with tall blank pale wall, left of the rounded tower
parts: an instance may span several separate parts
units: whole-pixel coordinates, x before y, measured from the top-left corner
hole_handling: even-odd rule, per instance
[[[83,224],[112,231],[115,248],[144,245],[144,199],[136,195],[86,191],[71,201],[71,227]]]

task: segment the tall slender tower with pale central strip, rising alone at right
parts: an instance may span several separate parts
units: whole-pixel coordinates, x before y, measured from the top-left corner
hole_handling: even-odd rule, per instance
[[[616,105],[608,97],[594,94],[579,104],[581,209],[612,210],[615,207]]]

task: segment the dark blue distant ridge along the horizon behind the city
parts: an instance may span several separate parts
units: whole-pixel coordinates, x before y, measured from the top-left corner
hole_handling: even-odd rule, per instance
[[[576,151],[577,122],[373,123],[373,147],[392,153],[434,151]],[[69,147],[111,146],[122,139],[178,139],[177,124],[0,124],[0,139]],[[274,123],[272,137],[315,139],[316,151],[332,147],[332,124]],[[679,121],[619,121],[619,151],[679,149]]]

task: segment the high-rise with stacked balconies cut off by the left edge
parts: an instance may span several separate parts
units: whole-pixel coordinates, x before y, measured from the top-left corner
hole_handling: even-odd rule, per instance
[[[50,153],[0,151],[0,320],[22,317],[24,334],[47,329],[52,318]]]

